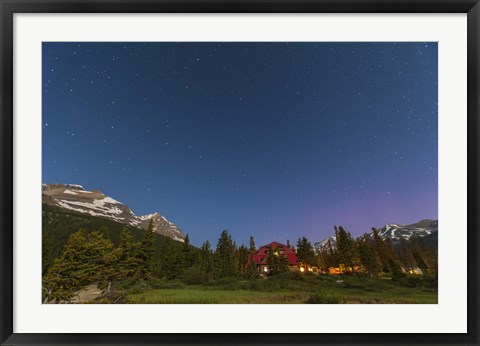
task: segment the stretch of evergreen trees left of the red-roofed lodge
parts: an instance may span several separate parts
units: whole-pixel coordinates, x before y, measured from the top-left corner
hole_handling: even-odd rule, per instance
[[[237,247],[231,235],[224,230],[215,249],[205,241],[200,249],[190,244],[188,235],[181,246],[170,242],[156,245],[152,223],[144,231],[141,241],[134,241],[128,229],[120,233],[114,246],[108,229],[73,233],[59,257],[48,258],[51,241],[43,238],[44,268],[42,298],[44,303],[71,302],[78,291],[97,284],[108,295],[125,284],[134,284],[155,277],[182,278],[189,283],[202,283],[224,277],[258,277],[258,271],[249,258],[256,251],[253,237],[250,246]]]

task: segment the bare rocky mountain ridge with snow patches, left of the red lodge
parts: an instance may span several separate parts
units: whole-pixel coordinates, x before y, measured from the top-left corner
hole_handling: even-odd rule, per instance
[[[185,235],[159,213],[137,216],[125,204],[102,192],[86,191],[75,184],[42,184],[42,202],[92,216],[104,217],[126,225],[146,229],[152,220],[155,233],[183,242]]]

